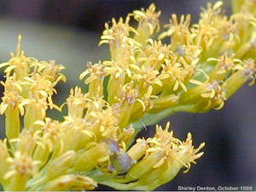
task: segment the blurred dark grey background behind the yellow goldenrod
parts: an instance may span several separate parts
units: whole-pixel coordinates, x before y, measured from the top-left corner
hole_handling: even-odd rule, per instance
[[[55,59],[66,66],[67,83],[60,83],[55,97],[62,104],[70,88],[79,85],[79,74],[87,61],[108,59],[108,46],[98,47],[104,23],[125,17],[134,9],[147,8],[155,3],[161,10],[160,23],[166,24],[170,15],[191,14],[198,20],[201,7],[207,0],[9,0],[0,1],[0,62],[9,59],[15,51],[17,36],[22,35],[21,47],[26,56],[38,60]],[[215,2],[215,1],[212,1]],[[230,14],[230,0],[224,0],[226,14]],[[3,70],[1,70],[3,81]],[[1,87],[0,93],[3,93]],[[1,95],[2,97],[2,95]],[[65,111],[63,112],[65,113]],[[61,120],[61,115],[49,111],[49,116]],[[241,88],[230,98],[223,110],[207,114],[177,113],[161,121],[172,121],[175,136],[185,139],[194,135],[195,146],[206,142],[205,155],[189,173],[180,173],[171,183],[157,190],[177,190],[178,186],[256,186],[256,86]],[[4,119],[0,119],[0,137],[3,138]],[[154,127],[139,134],[148,137]],[[99,186],[98,190],[112,190]]]

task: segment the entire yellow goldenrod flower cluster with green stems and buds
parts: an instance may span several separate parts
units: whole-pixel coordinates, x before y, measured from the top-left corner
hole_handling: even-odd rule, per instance
[[[191,133],[185,141],[156,126],[152,138],[133,138],[142,124],[177,111],[220,110],[238,88],[256,78],[256,3],[234,0],[227,17],[222,2],[208,4],[201,18],[172,14],[160,32],[154,4],[105,25],[100,45],[111,58],[88,63],[88,85],[71,89],[61,107],[54,104],[62,65],[38,61],[20,50],[0,65],[5,82],[0,113],[6,138],[0,141],[0,183],[5,190],[152,190],[171,181],[203,155]],[[130,20],[137,21],[132,27]],[[163,39],[165,40],[163,41]],[[166,43],[166,40],[169,43]],[[63,121],[48,109],[67,107]]]

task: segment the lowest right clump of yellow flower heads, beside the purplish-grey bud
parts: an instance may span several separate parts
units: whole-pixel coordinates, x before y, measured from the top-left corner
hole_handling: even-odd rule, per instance
[[[170,122],[163,129],[156,126],[154,138],[138,139],[128,155],[137,160],[137,163],[125,174],[124,178],[113,178],[103,182],[115,189],[152,190],[171,181],[182,167],[189,171],[191,163],[203,155],[198,153],[204,143],[197,149],[192,145],[191,134],[184,142],[173,137],[169,132]]]

